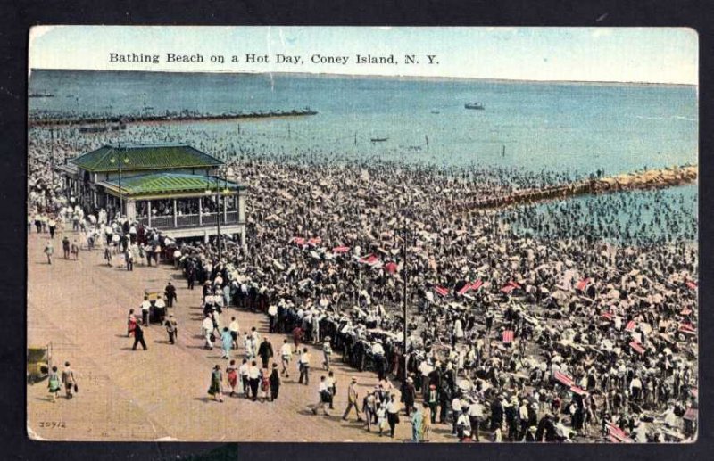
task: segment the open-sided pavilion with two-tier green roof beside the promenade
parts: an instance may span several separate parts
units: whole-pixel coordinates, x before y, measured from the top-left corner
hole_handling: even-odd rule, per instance
[[[86,210],[100,208],[173,238],[233,235],[245,245],[245,186],[188,144],[104,145],[60,167]]]

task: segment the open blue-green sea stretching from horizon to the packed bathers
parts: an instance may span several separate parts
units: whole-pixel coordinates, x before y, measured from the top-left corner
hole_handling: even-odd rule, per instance
[[[253,136],[266,152],[338,152],[359,159],[580,174],[682,165],[698,158],[693,86],[36,70],[29,91],[54,95],[29,98],[30,113],[220,113],[307,106],[319,112],[177,124],[179,138],[180,130],[197,128],[226,139],[240,125],[242,139]],[[474,101],[486,110],[464,109]],[[387,140],[371,143],[372,137]]]

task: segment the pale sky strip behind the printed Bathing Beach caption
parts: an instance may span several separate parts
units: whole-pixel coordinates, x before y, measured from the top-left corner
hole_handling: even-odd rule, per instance
[[[698,84],[699,38],[683,28],[390,28],[37,26],[30,69],[306,72]],[[158,54],[160,62],[111,62],[110,54]],[[166,54],[203,62],[166,62]],[[245,62],[245,54],[269,62]],[[278,63],[276,54],[302,63]],[[396,64],[358,64],[357,54]],[[413,54],[418,63],[405,64]],[[230,62],[236,55],[239,62]],[[347,56],[346,64],[312,63]],[[427,55],[436,55],[434,64]],[[211,62],[223,56],[224,62]]]

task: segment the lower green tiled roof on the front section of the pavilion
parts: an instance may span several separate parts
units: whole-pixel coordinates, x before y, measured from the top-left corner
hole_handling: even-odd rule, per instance
[[[119,179],[105,181],[103,185],[119,191]],[[237,191],[245,186],[238,185],[220,177],[205,175],[184,175],[179,173],[152,173],[147,175],[126,177],[121,180],[121,193],[125,195],[156,195],[170,193],[205,193],[206,190],[215,192]]]

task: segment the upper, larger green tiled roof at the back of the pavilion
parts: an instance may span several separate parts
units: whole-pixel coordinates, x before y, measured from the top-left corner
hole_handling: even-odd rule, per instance
[[[143,169],[211,168],[223,165],[212,155],[188,144],[104,145],[71,162],[93,173],[119,170],[119,157],[126,171]]]

